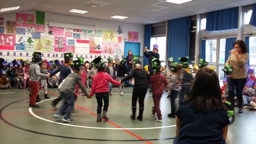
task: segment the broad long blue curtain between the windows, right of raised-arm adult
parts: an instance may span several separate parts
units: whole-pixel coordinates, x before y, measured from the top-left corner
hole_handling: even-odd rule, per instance
[[[174,61],[178,61],[178,58],[189,56],[189,17],[168,20],[167,38],[167,58],[172,56]]]

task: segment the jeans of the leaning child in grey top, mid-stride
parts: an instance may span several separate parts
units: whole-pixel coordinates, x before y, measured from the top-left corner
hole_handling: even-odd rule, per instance
[[[63,104],[61,105],[58,114],[62,115],[66,110],[65,117],[69,117],[75,105],[74,95],[73,93],[60,93],[60,97],[63,99]]]

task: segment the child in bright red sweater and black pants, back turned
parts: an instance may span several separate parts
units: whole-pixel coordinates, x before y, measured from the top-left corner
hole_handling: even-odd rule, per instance
[[[92,98],[93,93],[96,95],[97,99],[97,122],[101,122],[102,119],[108,120],[108,117],[106,116],[109,106],[109,83],[115,84],[117,86],[121,85],[120,81],[115,81],[112,79],[109,74],[105,73],[106,65],[104,64],[104,61],[100,56],[98,58],[95,58],[93,61],[93,65],[95,68],[98,69],[98,73],[93,77],[92,82],[92,90],[90,93],[90,96],[88,98]],[[104,106],[102,104],[102,100],[104,101]],[[102,112],[102,106],[103,106],[103,113]]]

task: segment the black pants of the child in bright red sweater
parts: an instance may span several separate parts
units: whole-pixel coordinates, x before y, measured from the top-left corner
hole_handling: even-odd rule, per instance
[[[104,106],[103,106],[103,110],[104,111],[108,111],[108,105],[109,105],[109,95],[108,92],[105,93],[95,93],[96,95],[96,99],[97,99],[97,113],[101,113],[102,112],[102,100],[104,101]]]

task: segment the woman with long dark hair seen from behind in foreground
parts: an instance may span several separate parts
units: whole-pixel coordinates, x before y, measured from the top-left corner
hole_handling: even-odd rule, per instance
[[[227,108],[221,100],[218,76],[214,70],[202,68],[195,83],[176,112],[176,134],[173,143],[226,143]]]

